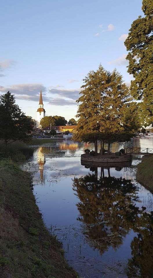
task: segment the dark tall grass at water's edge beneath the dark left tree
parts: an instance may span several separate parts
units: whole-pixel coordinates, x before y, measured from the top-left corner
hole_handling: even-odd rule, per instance
[[[23,142],[15,141],[7,146],[5,150],[3,142],[0,140],[0,158],[10,158],[15,162],[25,161],[32,156],[33,149]]]

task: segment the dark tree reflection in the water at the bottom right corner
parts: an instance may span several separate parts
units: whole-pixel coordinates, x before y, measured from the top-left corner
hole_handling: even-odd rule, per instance
[[[153,211],[148,214],[139,211],[140,216],[133,227],[137,237],[131,242],[131,255],[127,271],[128,277],[152,278],[153,277]],[[135,275],[135,276],[134,276]]]

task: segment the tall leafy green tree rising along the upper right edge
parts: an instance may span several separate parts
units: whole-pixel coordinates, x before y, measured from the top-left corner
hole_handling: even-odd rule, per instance
[[[143,0],[144,17],[134,20],[125,46],[129,52],[128,72],[133,75],[131,94],[141,103],[141,118],[145,126],[153,123],[153,1]]]

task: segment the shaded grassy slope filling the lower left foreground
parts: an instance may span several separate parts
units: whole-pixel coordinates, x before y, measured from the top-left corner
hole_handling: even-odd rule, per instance
[[[0,161],[0,277],[75,278],[61,243],[44,226],[29,173]]]

